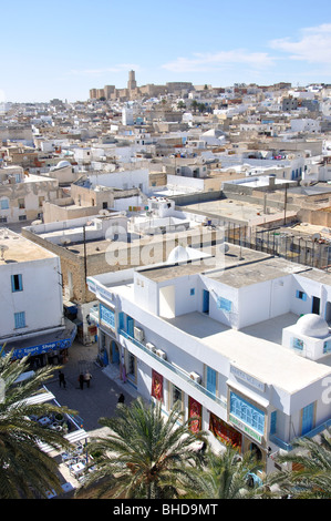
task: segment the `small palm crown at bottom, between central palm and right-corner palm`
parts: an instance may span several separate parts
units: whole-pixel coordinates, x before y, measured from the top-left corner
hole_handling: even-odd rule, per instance
[[[247,499],[260,496],[262,489],[249,487],[249,473],[256,473],[259,463],[251,452],[240,456],[238,449],[226,445],[215,453],[210,448],[205,458],[203,499]]]

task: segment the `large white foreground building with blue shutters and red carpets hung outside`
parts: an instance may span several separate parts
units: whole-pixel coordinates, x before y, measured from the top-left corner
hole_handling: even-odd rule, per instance
[[[279,450],[331,421],[328,325],[313,357],[282,338],[301,314],[330,320],[331,277],[232,245],[223,267],[196,254],[178,247],[163,265],[87,277],[100,350],[165,412],[179,400],[211,445],[255,450],[275,470]]]

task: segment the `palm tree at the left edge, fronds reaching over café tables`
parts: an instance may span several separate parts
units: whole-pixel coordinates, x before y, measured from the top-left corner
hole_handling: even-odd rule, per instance
[[[58,463],[43,452],[41,443],[53,448],[69,448],[61,432],[41,427],[30,418],[56,412],[65,408],[31,403],[29,398],[44,391],[42,384],[51,377],[54,366],[39,369],[28,379],[17,379],[29,369],[28,357],[11,359],[11,353],[0,351],[0,499],[45,497],[48,490],[61,491]],[[35,400],[32,400],[35,401]]]

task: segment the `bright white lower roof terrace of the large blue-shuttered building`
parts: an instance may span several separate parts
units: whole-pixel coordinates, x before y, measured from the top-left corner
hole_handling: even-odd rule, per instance
[[[293,319],[294,324],[298,319],[297,316],[289,315],[278,318],[280,329],[282,321],[289,324]],[[237,364],[242,371],[289,394],[330,375],[328,364],[318,364],[300,357],[291,349],[258,336],[262,329],[267,333],[268,325],[263,323],[250,326],[246,331],[238,331],[198,311],[164,320],[196,337],[209,349]]]

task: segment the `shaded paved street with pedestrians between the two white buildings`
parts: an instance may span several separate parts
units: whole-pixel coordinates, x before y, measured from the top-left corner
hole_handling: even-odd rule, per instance
[[[100,429],[99,419],[114,415],[121,392],[125,396],[125,403],[130,403],[137,396],[131,384],[123,384],[120,380],[118,367],[99,367],[95,364],[96,355],[96,344],[83,346],[74,341],[69,349],[69,361],[62,369],[66,381],[65,389],[60,388],[58,370],[54,371],[54,378],[45,384],[61,406],[68,406],[77,411],[86,431]],[[84,389],[81,390],[79,375],[81,370],[86,369],[91,372],[92,380],[90,388],[85,384]]]

